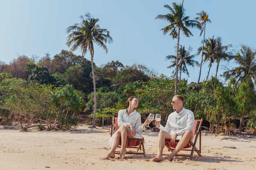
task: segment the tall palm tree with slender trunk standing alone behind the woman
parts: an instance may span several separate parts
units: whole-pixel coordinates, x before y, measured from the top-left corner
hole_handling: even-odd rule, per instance
[[[95,82],[95,73],[94,73],[94,47],[93,44],[101,46],[103,50],[108,53],[108,49],[106,47],[106,43],[112,42],[112,38],[110,37],[110,33],[107,29],[101,29],[97,22],[99,18],[92,18],[90,13],[85,14],[85,18],[80,16],[82,22],[76,23],[73,26],[69,26],[67,28],[68,41],[67,46],[71,47],[72,51],[81,48],[82,56],[90,51],[91,55],[91,64],[92,64],[92,78],[93,78],[93,88],[94,88],[94,117],[92,128],[96,128],[96,109],[97,109],[97,98],[96,98],[96,82]]]

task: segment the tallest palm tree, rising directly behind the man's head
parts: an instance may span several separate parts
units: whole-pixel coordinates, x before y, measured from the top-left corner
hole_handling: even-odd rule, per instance
[[[173,8],[171,8],[168,4],[165,4],[164,7],[167,8],[170,13],[166,15],[157,15],[155,19],[166,20],[170,23],[170,25],[161,29],[164,31],[164,35],[171,31],[170,35],[174,38],[177,38],[177,57],[176,57],[176,76],[175,76],[175,95],[177,95],[177,82],[178,82],[178,58],[179,58],[179,42],[180,42],[180,31],[186,36],[189,37],[193,34],[189,31],[187,27],[196,27],[201,29],[201,25],[196,20],[189,20],[189,17],[185,15],[185,9],[182,4],[177,4],[173,2]],[[187,26],[187,27],[186,27]]]

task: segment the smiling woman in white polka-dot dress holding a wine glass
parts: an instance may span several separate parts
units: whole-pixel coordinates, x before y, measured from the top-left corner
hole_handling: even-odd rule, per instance
[[[126,140],[127,137],[142,138],[142,131],[146,130],[145,126],[150,124],[150,120],[146,119],[141,125],[141,115],[135,108],[139,105],[139,100],[135,96],[129,97],[127,100],[127,109],[119,110],[118,125],[119,129],[110,137],[110,150],[103,159],[115,158],[115,150],[119,145],[121,139],[121,150],[119,159],[124,159],[126,154]]]

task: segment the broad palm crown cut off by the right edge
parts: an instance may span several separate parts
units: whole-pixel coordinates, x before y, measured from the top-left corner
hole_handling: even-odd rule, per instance
[[[240,53],[237,53],[234,60],[238,66],[223,73],[225,80],[234,77],[237,82],[245,82],[254,89],[256,83],[256,51],[253,51],[249,46],[242,45]]]

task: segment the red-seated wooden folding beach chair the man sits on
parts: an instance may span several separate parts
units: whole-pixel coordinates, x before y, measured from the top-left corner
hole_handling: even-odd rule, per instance
[[[193,130],[193,140],[189,141],[189,144],[187,144],[184,149],[182,149],[180,152],[178,152],[175,156],[183,156],[183,157],[189,157],[191,160],[192,157],[195,157],[196,155],[193,155],[194,150],[197,152],[199,156],[201,155],[201,127],[202,127],[203,119],[195,119],[195,126]],[[195,146],[196,142],[198,140],[199,136],[199,149]],[[171,144],[170,139],[165,140],[165,146],[168,148],[168,151],[173,151],[173,149],[176,147],[179,140],[175,141],[175,144]],[[192,148],[191,148],[192,147]],[[184,154],[183,151],[188,151],[189,154]],[[182,153],[181,153],[182,152]],[[169,155],[169,154],[163,154],[163,155]]]

